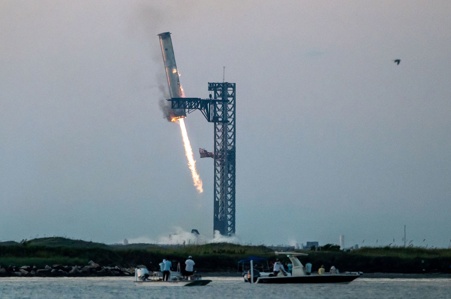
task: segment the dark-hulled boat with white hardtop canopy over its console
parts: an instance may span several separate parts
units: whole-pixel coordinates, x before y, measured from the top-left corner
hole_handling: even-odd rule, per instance
[[[304,266],[297,258],[298,256],[306,256],[308,254],[303,254],[299,252],[275,252],[275,254],[286,254],[290,259],[293,268],[291,273],[285,275],[278,273],[277,276],[260,276],[254,274],[253,264],[251,263],[251,269],[249,270],[248,277],[244,277],[246,281],[255,283],[350,283],[354,279],[358,278],[361,273],[345,273],[345,274],[314,274],[307,275],[304,271]],[[255,279],[255,276],[258,276]],[[246,279],[248,278],[248,279]]]

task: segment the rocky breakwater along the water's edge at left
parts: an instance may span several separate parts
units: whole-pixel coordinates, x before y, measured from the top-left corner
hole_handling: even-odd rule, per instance
[[[134,268],[102,267],[93,261],[87,266],[62,266],[53,265],[44,268],[36,266],[0,266],[0,277],[21,276],[21,277],[55,277],[55,276],[133,276]]]

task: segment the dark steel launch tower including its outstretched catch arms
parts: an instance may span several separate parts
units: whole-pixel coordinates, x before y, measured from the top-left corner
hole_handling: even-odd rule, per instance
[[[200,149],[201,158],[214,159],[213,231],[235,234],[235,83],[208,83],[209,99],[171,98],[172,109],[200,110],[214,124],[214,152]]]

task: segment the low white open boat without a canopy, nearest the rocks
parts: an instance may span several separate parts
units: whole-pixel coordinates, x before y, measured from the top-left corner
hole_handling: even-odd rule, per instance
[[[202,279],[202,276],[194,274],[184,279],[180,272],[170,271],[170,276],[167,281],[163,281],[158,272],[149,271],[146,268],[135,268],[135,285],[141,286],[197,286],[207,285],[211,280]]]

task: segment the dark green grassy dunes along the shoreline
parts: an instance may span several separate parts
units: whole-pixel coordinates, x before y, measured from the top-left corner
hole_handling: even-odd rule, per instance
[[[451,273],[451,249],[424,248],[370,248],[343,251],[304,251],[315,271],[322,264],[344,271],[365,273]],[[101,266],[134,267],[143,264],[156,269],[163,258],[184,260],[192,255],[199,272],[236,272],[237,262],[251,255],[265,257],[269,262],[276,256],[265,246],[247,246],[229,243],[162,247],[150,244],[105,245],[59,237],[39,238],[22,243],[0,243],[0,267],[46,265],[86,265],[90,260]],[[282,262],[288,262],[283,255]],[[176,266],[176,263],[174,267]],[[241,267],[240,267],[241,269]]]

